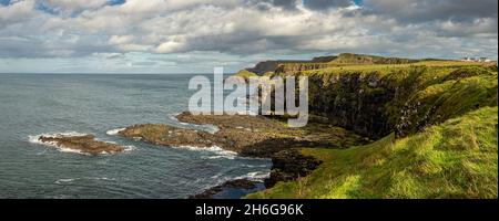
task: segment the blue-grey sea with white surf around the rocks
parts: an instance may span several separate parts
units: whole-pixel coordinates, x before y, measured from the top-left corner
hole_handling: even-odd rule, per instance
[[[193,74],[0,74],[0,198],[182,199],[233,179],[262,181],[272,161],[218,147],[156,146],[116,135],[146,123],[180,123],[196,91]],[[211,75],[206,75],[213,78]],[[38,141],[41,135],[91,134],[126,147],[86,156]],[[262,189],[226,189],[241,198]]]

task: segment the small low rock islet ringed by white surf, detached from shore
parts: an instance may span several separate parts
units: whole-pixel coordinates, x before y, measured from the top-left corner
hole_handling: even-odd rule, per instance
[[[95,136],[93,135],[40,136],[38,139],[44,144],[72,149],[88,155],[114,154],[124,150],[124,148],[119,145],[95,140]]]

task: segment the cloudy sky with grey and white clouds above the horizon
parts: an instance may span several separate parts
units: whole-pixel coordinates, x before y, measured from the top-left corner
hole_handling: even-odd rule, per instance
[[[343,52],[498,57],[497,0],[0,0],[0,73],[236,72]]]

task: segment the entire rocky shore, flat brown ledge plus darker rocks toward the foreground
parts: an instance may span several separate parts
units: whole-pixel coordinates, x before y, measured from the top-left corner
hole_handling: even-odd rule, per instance
[[[176,118],[187,124],[213,125],[218,131],[211,134],[162,124],[143,124],[126,127],[119,135],[160,146],[217,146],[242,157],[271,158],[273,167],[269,178],[264,180],[266,188],[279,181],[305,177],[322,164],[313,157],[302,155],[299,148],[346,148],[368,141],[320,117],[312,117],[303,128],[291,128],[284,120],[264,116],[192,115],[184,112]],[[255,183],[251,180],[232,180],[192,198],[211,198],[227,188],[247,190],[254,187]]]

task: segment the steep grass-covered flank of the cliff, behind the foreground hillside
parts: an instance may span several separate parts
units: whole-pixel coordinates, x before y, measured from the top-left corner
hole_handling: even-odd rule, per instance
[[[473,70],[482,71],[482,69]],[[406,133],[417,133],[427,125],[441,123],[479,107],[497,106],[497,73],[485,72],[473,75],[472,71],[468,71],[469,76],[459,78],[455,72],[441,75],[444,80],[425,82],[419,91],[408,96],[401,122],[407,124]]]

